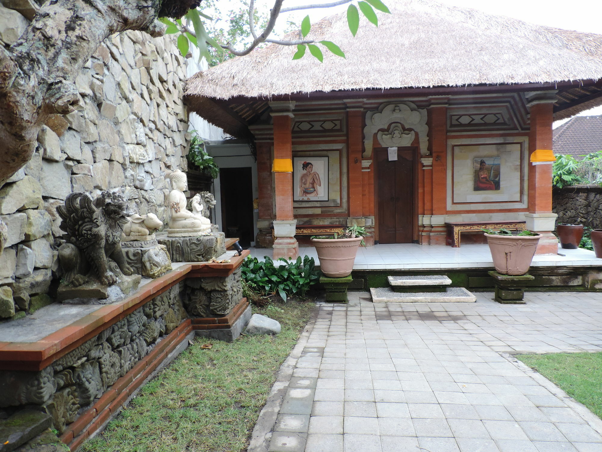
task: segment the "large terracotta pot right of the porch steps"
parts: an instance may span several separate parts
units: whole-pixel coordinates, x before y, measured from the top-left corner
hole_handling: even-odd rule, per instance
[[[536,236],[498,236],[487,234],[487,243],[495,271],[502,275],[524,275],[529,271],[535,250],[539,243]]]

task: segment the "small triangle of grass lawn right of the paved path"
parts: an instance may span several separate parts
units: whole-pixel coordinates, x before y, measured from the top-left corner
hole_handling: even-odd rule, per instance
[[[602,353],[516,355],[602,418]]]

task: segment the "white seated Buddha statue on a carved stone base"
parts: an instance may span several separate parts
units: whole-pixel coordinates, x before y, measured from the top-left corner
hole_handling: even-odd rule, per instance
[[[208,218],[200,215],[201,210],[195,209],[196,213],[186,208],[186,196],[184,191],[188,189],[186,174],[179,169],[169,175],[173,190],[167,198],[169,206],[168,237],[194,237],[211,231],[211,222]]]

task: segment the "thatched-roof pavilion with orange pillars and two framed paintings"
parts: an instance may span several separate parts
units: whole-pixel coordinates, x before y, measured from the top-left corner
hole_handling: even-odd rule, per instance
[[[356,37],[345,14],[312,25],[346,58],[268,45],[188,79],[191,110],[255,145],[256,245],[294,257],[300,230],[352,224],[368,245],[444,245],[447,222],[525,221],[556,253],[552,123],[602,104],[602,35],[387,4]]]

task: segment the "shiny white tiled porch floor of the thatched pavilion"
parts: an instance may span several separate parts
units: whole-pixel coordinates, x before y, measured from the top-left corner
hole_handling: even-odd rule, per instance
[[[261,259],[272,256],[271,248],[250,248],[251,256]],[[560,254],[535,256],[532,266],[602,266],[594,251],[563,250]],[[300,256],[310,256],[318,263],[315,248],[299,248]],[[564,256],[562,256],[564,255]],[[442,245],[395,243],[361,247],[355,258],[355,270],[368,269],[452,269],[492,267],[489,246],[462,245],[460,248]]]

